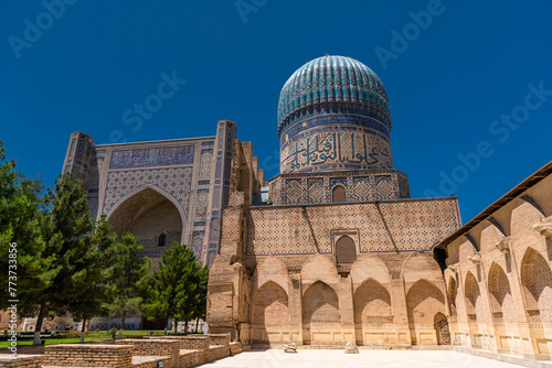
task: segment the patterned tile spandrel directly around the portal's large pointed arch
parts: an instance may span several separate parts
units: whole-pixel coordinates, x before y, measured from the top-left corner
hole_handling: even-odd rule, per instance
[[[150,184],[172,195],[180,203],[185,217],[188,217],[191,181],[192,167],[109,172],[107,174],[102,213],[103,215],[107,215],[128,193],[139,190],[146,184]]]

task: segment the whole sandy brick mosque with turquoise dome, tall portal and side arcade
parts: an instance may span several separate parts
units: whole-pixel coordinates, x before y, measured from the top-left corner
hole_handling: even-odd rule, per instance
[[[245,346],[551,359],[552,162],[463,225],[456,197],[411,198],[385,88],[362,63],[305,64],[277,119],[280,174],[266,183],[229,120],[212,137],[141,143],[74,132],[63,172],[153,267],[173,241],[191,247],[210,267],[210,332]]]

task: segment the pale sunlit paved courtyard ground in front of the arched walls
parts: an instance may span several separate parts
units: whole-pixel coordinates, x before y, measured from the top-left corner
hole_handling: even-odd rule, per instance
[[[309,368],[309,367],[378,367],[378,368],[514,368],[497,360],[476,357],[452,350],[302,350],[285,354],[280,349],[245,351],[200,367],[226,368]]]

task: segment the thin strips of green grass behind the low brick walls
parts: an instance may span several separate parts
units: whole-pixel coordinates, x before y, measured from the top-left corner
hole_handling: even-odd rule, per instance
[[[153,336],[162,336],[162,331],[155,331]],[[141,338],[141,336],[150,336],[149,331],[124,331],[123,338]],[[68,333],[59,333],[57,336],[54,337],[44,337],[42,339],[46,340],[46,345],[52,344],[75,344],[81,343],[81,333],[68,332]],[[100,340],[110,340],[112,336],[107,331],[93,331],[86,333],[84,342],[100,342]],[[32,337],[19,337],[18,346],[24,345],[33,345]],[[0,337],[0,348],[11,346],[11,342],[8,342],[8,337]]]

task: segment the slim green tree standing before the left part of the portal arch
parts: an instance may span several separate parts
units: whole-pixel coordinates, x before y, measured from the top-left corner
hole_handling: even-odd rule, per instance
[[[127,314],[138,312],[142,301],[140,291],[150,278],[151,260],[139,256],[142,248],[135,236],[125,232],[123,242],[116,242],[109,249],[116,261],[107,270],[109,301],[104,306],[112,316],[123,315],[119,338],[123,338]]]

